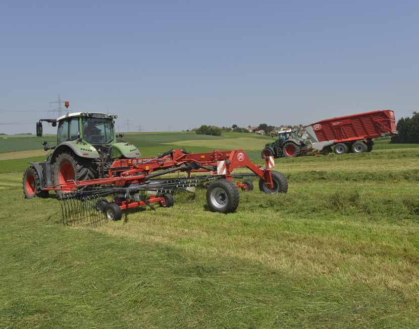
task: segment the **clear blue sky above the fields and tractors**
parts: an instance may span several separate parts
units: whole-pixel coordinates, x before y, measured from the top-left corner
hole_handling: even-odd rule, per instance
[[[418,36],[417,1],[2,1],[0,132],[59,93],[121,130],[410,116]]]

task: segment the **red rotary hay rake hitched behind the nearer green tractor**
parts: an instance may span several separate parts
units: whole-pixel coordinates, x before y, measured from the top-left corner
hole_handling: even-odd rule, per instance
[[[173,193],[188,191],[188,187],[206,188],[206,200],[212,211],[232,213],[239,204],[238,189],[253,189],[250,180],[234,183],[233,178],[259,177],[261,191],[287,192],[286,177],[271,171],[273,161],[273,157],[266,158],[264,168],[254,165],[243,150],[189,153],[175,149],[154,158],[118,159],[106,178],[67,181],[44,190],[65,192],[61,193],[60,202],[66,225],[89,219],[96,226],[102,220],[121,219],[126,209],[148,206],[154,210],[155,203],[172,207]],[[236,168],[248,168],[251,172],[233,174]],[[155,178],[175,172],[185,172],[187,176]],[[104,198],[108,195],[113,195],[111,202]]]

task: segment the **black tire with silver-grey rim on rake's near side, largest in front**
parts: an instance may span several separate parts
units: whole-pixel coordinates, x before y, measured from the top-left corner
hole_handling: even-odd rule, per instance
[[[227,179],[219,179],[206,190],[206,202],[214,212],[234,213],[239,206],[240,194],[236,185]]]

